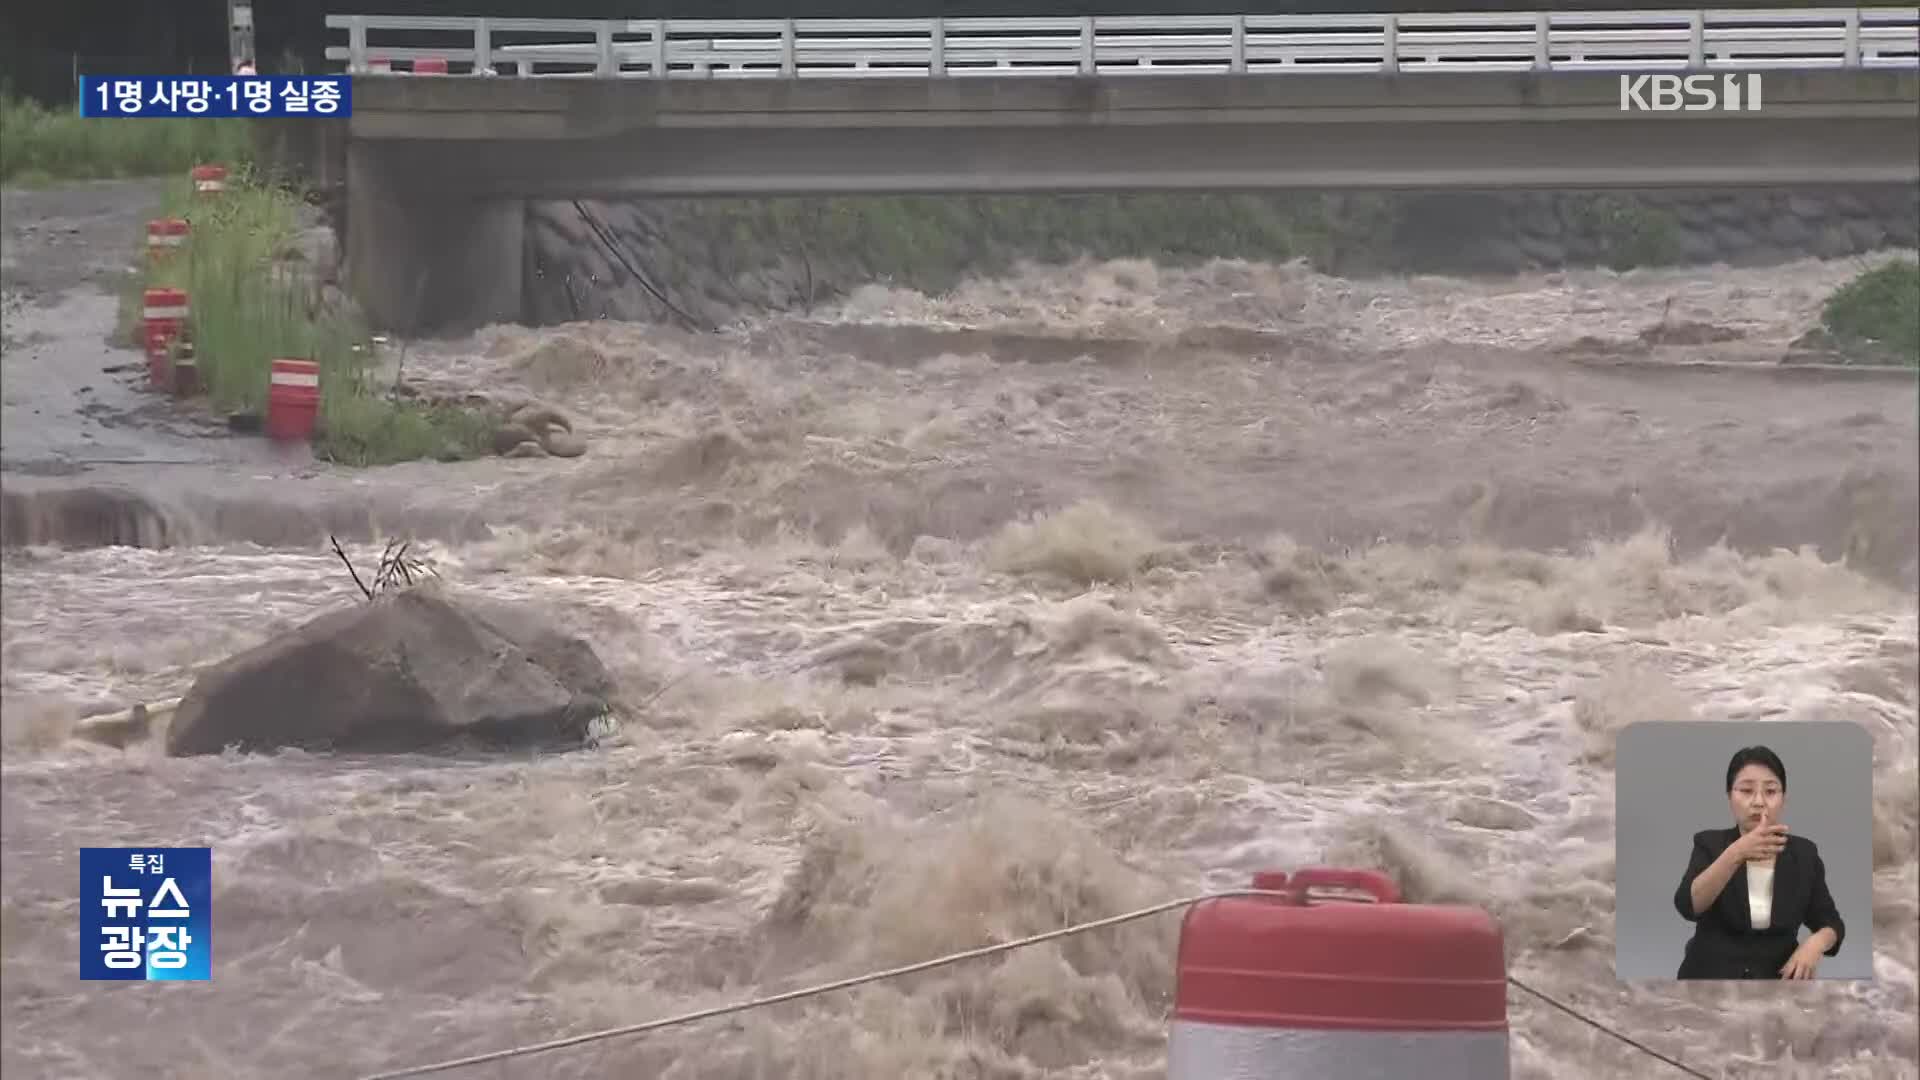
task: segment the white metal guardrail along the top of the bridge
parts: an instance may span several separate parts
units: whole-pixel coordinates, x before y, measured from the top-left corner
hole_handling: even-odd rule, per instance
[[[561,79],[1920,67],[1920,8],[1020,19],[328,15],[326,25],[348,35],[326,58],[355,75],[426,73],[420,67]]]

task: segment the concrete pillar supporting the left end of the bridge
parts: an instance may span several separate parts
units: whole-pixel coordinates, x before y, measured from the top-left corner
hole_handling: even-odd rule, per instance
[[[376,331],[463,334],[522,321],[526,200],[409,181],[382,148],[348,142],[348,288]]]

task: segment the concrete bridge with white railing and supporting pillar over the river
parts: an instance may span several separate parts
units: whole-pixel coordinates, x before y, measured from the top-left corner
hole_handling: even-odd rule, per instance
[[[392,329],[513,319],[528,198],[1920,181],[1920,10],[328,25]]]

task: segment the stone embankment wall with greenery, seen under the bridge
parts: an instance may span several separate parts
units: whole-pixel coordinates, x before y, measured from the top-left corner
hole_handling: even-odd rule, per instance
[[[1843,258],[1914,248],[1920,188],[532,202],[526,225],[530,325],[716,325],[877,279],[939,290],[1079,254],[1308,258],[1331,273]]]

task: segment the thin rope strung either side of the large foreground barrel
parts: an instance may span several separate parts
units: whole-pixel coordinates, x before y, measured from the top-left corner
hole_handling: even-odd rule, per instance
[[[856,976],[851,976],[851,978],[841,978],[837,982],[824,982],[820,986],[804,986],[801,990],[787,990],[785,994],[772,994],[772,995],[766,995],[766,997],[753,997],[749,1001],[735,1001],[732,1005],[714,1005],[710,1009],[697,1009],[693,1013],[682,1013],[678,1017],[664,1017],[664,1019],[659,1019],[659,1020],[647,1020],[643,1024],[626,1024],[626,1026],[620,1026],[620,1028],[607,1028],[607,1030],[601,1030],[601,1032],[586,1032],[586,1034],[568,1036],[568,1038],[561,1038],[561,1040],[551,1040],[551,1042],[543,1042],[543,1043],[515,1045],[515,1047],[507,1047],[507,1049],[495,1049],[492,1053],[476,1053],[472,1057],[459,1057],[459,1059],[451,1059],[451,1061],[436,1061],[432,1065],[415,1065],[415,1067],[409,1067],[409,1068],[396,1068],[392,1072],[374,1072],[374,1074],[369,1074],[369,1076],[361,1076],[359,1080],[403,1080],[407,1076],[428,1076],[432,1072],[445,1072],[449,1068],[465,1068],[468,1065],[486,1065],[490,1061],[505,1061],[509,1057],[526,1057],[526,1055],[532,1055],[532,1053],[545,1053],[549,1049],[563,1049],[563,1047],[568,1047],[568,1045],[580,1045],[580,1043],[589,1043],[589,1042],[603,1042],[603,1040],[620,1038],[620,1036],[637,1036],[637,1034],[643,1034],[643,1032],[657,1032],[660,1028],[676,1028],[680,1024],[691,1024],[695,1020],[710,1020],[714,1017],[726,1017],[726,1015],[732,1015],[732,1013],[749,1013],[753,1009],[764,1009],[768,1005],[783,1005],[787,1001],[799,1001],[803,997],[818,997],[822,994],[833,994],[835,990],[849,990],[852,986],[862,986],[862,984],[868,984],[868,982],[883,982],[883,980],[889,980],[889,978],[902,978],[902,976],[908,976],[908,974],[918,974],[918,972],[924,972],[924,970],[933,970],[937,967],[950,967],[950,965],[972,961],[972,959],[979,959],[979,957],[991,957],[991,955],[996,955],[996,953],[1010,953],[1014,949],[1023,949],[1027,945],[1039,945],[1043,942],[1052,942],[1052,940],[1068,938],[1068,936],[1073,936],[1073,934],[1087,934],[1091,930],[1106,930],[1108,926],[1119,926],[1123,922],[1137,922],[1140,919],[1162,915],[1165,911],[1175,911],[1175,909],[1181,909],[1181,907],[1192,907],[1194,903],[1202,903],[1202,901],[1208,901],[1208,899],[1229,899],[1229,897],[1248,897],[1248,896],[1290,897],[1294,894],[1292,892],[1273,892],[1273,890],[1240,888],[1240,890],[1225,890],[1225,892],[1210,892],[1210,894],[1200,894],[1200,896],[1188,896],[1188,897],[1183,897],[1183,899],[1169,899],[1169,901],[1164,901],[1164,903],[1156,903],[1152,907],[1140,907],[1137,911],[1125,911],[1121,915],[1110,915],[1106,919],[1094,919],[1092,922],[1077,922],[1073,926],[1062,926],[1058,930],[1048,930],[1044,934],[1033,934],[1031,938],[1018,938],[1014,942],[1000,942],[998,945],[981,945],[977,949],[966,949],[966,951],[960,951],[960,953],[950,953],[950,955],[945,955],[945,957],[933,957],[929,961],[910,963],[910,965],[895,967],[895,969],[887,969],[887,970],[874,970],[874,972],[868,972],[868,974],[856,974]],[[1622,1036],[1620,1032],[1617,1032],[1617,1030],[1613,1030],[1613,1028],[1609,1028],[1609,1026],[1605,1026],[1605,1024],[1601,1024],[1597,1020],[1592,1020],[1592,1019],[1580,1015],[1572,1007],[1563,1005],[1563,1003],[1555,1001],[1553,997],[1548,997],[1546,994],[1540,994],[1538,990],[1523,984],[1521,980],[1517,980],[1513,976],[1507,976],[1507,982],[1511,982],[1513,986],[1524,990],[1526,994],[1532,994],[1534,997],[1540,997],[1542,1001],[1546,1001],[1548,1005],[1553,1005],[1555,1009],[1567,1013],[1569,1017],[1574,1017],[1576,1020],[1580,1020],[1584,1024],[1590,1024],[1590,1026],[1594,1026],[1594,1028],[1597,1028],[1597,1030],[1601,1030],[1601,1032],[1605,1032],[1605,1034],[1609,1034],[1609,1036],[1624,1042],[1626,1045],[1630,1045],[1630,1047],[1634,1047],[1634,1049],[1638,1049],[1638,1051],[1642,1051],[1642,1053],[1645,1053],[1649,1057],[1655,1057],[1659,1061],[1665,1061],[1667,1065],[1672,1065],[1674,1068],[1678,1068],[1680,1072],[1686,1072],[1688,1076],[1697,1076],[1699,1080],[1713,1080],[1705,1072],[1699,1072],[1699,1070],[1693,1070],[1693,1068],[1690,1068],[1686,1065],[1680,1065],[1678,1061],[1674,1061],[1674,1059],[1670,1059],[1670,1057],[1667,1057],[1667,1055],[1663,1055],[1663,1053],[1659,1053],[1655,1049],[1649,1049],[1645,1043],[1640,1043],[1640,1042],[1636,1042],[1636,1040],[1632,1040],[1628,1036]]]

